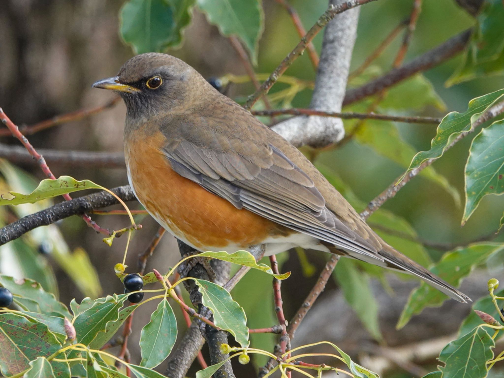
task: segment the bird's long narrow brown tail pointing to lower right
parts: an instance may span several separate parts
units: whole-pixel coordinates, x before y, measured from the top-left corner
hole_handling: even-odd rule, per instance
[[[411,275],[417,276],[426,283],[428,283],[429,285],[435,287],[437,290],[442,291],[449,297],[458,300],[459,302],[467,303],[468,301],[472,301],[471,298],[469,298],[467,295],[454,288],[452,285],[446,283],[436,275],[430,273],[427,269],[415,263],[413,260],[404,256],[403,254],[399,253],[390,245],[386,243],[384,244],[385,245],[383,249],[379,251],[379,255],[383,257],[386,265],[384,265],[384,262],[382,261],[380,261],[381,264],[373,262],[374,264],[381,265],[389,269],[397,270],[402,273],[409,273]],[[346,255],[361,260],[359,259],[360,256],[356,254],[348,253],[346,251],[344,254],[342,254],[342,251],[337,249],[337,247],[333,246],[333,248],[330,248],[330,250],[333,253],[336,253],[338,255]]]

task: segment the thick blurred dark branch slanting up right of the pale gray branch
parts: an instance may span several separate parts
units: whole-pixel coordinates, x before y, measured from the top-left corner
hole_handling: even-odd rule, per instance
[[[467,29],[466,31],[456,35],[453,38],[450,38],[448,41],[440,44],[432,50],[413,59],[408,64],[403,65],[400,68],[393,69],[384,76],[372,80],[359,88],[349,89],[346,92],[345,99],[343,100],[343,106],[359,101],[364,97],[379,93],[384,89],[390,88],[393,85],[413,76],[418,72],[431,69],[432,67],[435,67],[442,62],[452,58],[453,56],[464,50],[470,36],[471,29]]]

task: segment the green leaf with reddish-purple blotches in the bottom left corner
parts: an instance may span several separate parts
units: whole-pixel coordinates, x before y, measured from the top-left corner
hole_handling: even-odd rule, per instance
[[[48,357],[60,348],[47,326],[13,313],[0,314],[0,367],[14,375],[29,368],[37,357]]]

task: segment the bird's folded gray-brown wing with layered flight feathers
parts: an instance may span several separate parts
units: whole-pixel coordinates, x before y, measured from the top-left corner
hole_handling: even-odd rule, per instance
[[[163,152],[178,174],[225,198],[238,209],[245,208],[293,230],[354,251],[363,260],[383,261],[369,242],[326,207],[310,177],[278,148],[266,144],[247,146],[249,142],[245,141],[240,145],[239,139],[226,139],[226,145],[222,146],[218,140],[218,137],[213,139],[211,149],[188,140],[171,140]],[[233,148],[229,148],[230,144]]]

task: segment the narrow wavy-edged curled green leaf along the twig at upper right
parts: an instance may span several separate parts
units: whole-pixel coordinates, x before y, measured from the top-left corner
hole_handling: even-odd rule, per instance
[[[425,160],[437,159],[442,156],[446,147],[458,135],[469,131],[473,122],[490,106],[501,99],[503,95],[504,89],[501,89],[481,97],[476,97],[469,101],[469,107],[464,113],[456,111],[448,113],[437,127],[436,136],[432,139],[430,150],[421,151],[416,154],[403,177],[412,169],[418,168]]]

